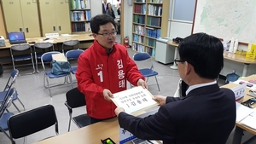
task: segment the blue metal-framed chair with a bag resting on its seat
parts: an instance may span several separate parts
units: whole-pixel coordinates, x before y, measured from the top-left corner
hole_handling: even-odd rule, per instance
[[[59,85],[63,85],[63,84],[66,84],[67,81],[66,81],[66,77],[69,78],[69,81],[71,82],[71,86],[73,88],[73,83],[72,83],[72,77],[71,77],[71,72],[68,72],[68,73],[63,73],[63,74],[59,74],[59,75],[56,75],[56,74],[53,74],[51,72],[51,70],[46,70],[45,68],[45,63],[51,63],[52,61],[52,55],[55,55],[55,54],[60,54],[61,52],[59,51],[51,51],[51,52],[46,52],[44,53],[44,55],[41,56],[41,62],[42,62],[42,66],[44,68],[44,88],[45,89],[49,89],[49,95],[50,97],[52,97],[51,95],[51,91],[50,91],[50,88],[52,87],[55,87],[55,86],[59,86]],[[63,84],[53,84],[53,85],[49,85],[49,78],[63,78],[64,77],[64,83]],[[47,83],[47,85],[45,84],[45,81]],[[68,83],[69,84],[69,83]]]

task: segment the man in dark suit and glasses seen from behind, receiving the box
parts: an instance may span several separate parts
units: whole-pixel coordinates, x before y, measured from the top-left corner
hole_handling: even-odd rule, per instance
[[[216,79],[224,66],[223,44],[217,37],[195,33],[178,46],[175,60],[180,77],[189,85],[183,98],[155,95],[160,108],[137,118],[117,107],[121,128],[137,138],[164,144],[225,144],[236,124],[235,94],[219,88]]]

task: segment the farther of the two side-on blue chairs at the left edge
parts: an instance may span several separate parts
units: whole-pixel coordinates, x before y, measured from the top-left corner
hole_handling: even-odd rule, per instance
[[[13,70],[13,72],[10,73],[10,77],[9,80],[7,81],[7,84],[5,85],[3,91],[0,91],[0,103],[3,103],[4,101],[4,97],[7,94],[7,92],[9,91],[9,89],[12,88],[12,85],[15,84],[15,80],[19,75],[19,71],[18,70]],[[21,106],[24,108],[25,110],[25,106],[24,104],[20,101],[19,95],[17,93],[17,91],[15,90],[15,95],[13,95],[13,100],[12,103],[15,106],[15,108],[18,110],[18,112],[20,112],[20,109],[15,105],[15,101],[18,100],[21,104]]]

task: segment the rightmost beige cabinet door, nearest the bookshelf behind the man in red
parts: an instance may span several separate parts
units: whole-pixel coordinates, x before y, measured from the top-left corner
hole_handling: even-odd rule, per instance
[[[55,13],[59,34],[71,34],[68,0],[55,0]]]

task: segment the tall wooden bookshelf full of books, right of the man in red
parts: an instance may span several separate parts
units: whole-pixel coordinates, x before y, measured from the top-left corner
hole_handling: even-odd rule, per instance
[[[157,38],[167,36],[169,5],[169,0],[133,0],[133,51],[155,57]]]

